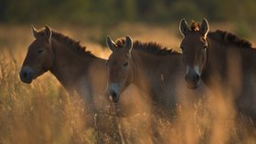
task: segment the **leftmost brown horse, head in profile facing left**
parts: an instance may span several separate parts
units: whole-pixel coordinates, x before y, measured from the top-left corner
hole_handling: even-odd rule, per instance
[[[29,84],[50,71],[70,94],[82,96],[89,108],[100,106],[107,82],[105,60],[48,26],[41,30],[32,27],[32,32],[36,39],[28,47],[20,79]]]

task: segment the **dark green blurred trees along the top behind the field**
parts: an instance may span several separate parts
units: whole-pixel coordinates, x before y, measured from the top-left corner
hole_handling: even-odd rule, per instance
[[[1,0],[1,23],[65,22],[113,25],[166,23],[186,17],[255,23],[255,0]]]

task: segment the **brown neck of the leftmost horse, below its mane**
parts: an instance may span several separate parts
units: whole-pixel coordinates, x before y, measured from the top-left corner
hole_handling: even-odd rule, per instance
[[[52,50],[54,53],[53,66],[49,71],[58,78],[59,82],[68,91],[74,90],[77,81],[84,71],[92,62],[92,57],[81,57],[79,52],[70,49],[69,46],[61,44],[59,41],[52,39]]]

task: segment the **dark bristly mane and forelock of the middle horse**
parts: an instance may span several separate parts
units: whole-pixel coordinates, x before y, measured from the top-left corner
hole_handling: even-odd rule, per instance
[[[124,38],[119,38],[115,41],[116,45],[121,47],[124,45],[124,42],[125,42]],[[174,49],[168,49],[167,47],[163,47],[154,42],[144,43],[136,40],[133,42],[133,48],[136,50],[141,50],[149,54],[158,55],[158,56],[179,54]]]

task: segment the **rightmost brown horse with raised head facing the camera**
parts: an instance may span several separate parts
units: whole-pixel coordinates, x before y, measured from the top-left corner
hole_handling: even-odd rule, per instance
[[[239,36],[208,29],[206,19],[190,28],[180,22],[187,86],[197,88],[201,79],[208,87],[232,87],[237,108],[255,117],[256,49]]]

